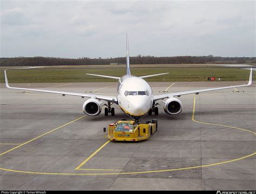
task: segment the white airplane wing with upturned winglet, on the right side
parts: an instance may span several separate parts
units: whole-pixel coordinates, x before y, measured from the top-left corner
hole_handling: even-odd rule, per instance
[[[199,94],[199,92],[206,92],[206,91],[214,91],[214,90],[223,90],[223,89],[228,89],[228,88],[238,88],[238,87],[245,87],[245,86],[249,86],[252,84],[252,68],[250,71],[250,77],[249,77],[249,81],[248,84],[244,84],[244,85],[231,85],[228,87],[220,87],[220,88],[208,88],[208,89],[201,89],[201,90],[190,90],[190,91],[182,91],[182,92],[174,92],[174,93],[167,93],[167,94],[161,94],[161,95],[154,95],[153,96],[153,100],[159,100],[159,99],[164,99],[164,98],[171,98],[174,96],[181,96],[181,95],[187,95],[187,94]]]

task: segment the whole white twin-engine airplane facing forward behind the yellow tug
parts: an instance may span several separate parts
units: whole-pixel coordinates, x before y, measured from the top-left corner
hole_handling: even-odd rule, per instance
[[[158,104],[156,102],[157,100],[160,100],[160,99],[165,99],[164,111],[167,114],[178,114],[182,111],[183,105],[179,99],[174,97],[180,97],[181,95],[187,95],[187,94],[193,94],[193,93],[197,95],[199,94],[199,92],[206,92],[206,91],[213,91],[213,90],[246,87],[252,84],[252,68],[251,68],[248,84],[153,95],[152,88],[150,87],[149,83],[143,80],[143,78],[164,75],[168,73],[146,75],[146,76],[140,76],[140,77],[131,75],[130,60],[129,60],[129,44],[128,44],[127,35],[126,35],[126,51],[127,51],[126,75],[122,77],[113,77],[113,76],[106,76],[106,75],[87,74],[87,75],[107,77],[107,78],[118,80],[117,96],[104,96],[104,95],[97,95],[97,94],[83,94],[83,93],[76,93],[76,92],[10,87],[8,84],[6,70],[4,70],[5,85],[7,88],[10,88],[10,89],[49,92],[53,94],[62,94],[62,96],[71,95],[71,96],[80,96],[82,98],[84,97],[90,98],[90,99],[87,99],[83,104],[83,112],[89,116],[97,116],[98,114],[100,114],[100,112],[102,111],[103,105],[107,106],[105,107],[105,116],[107,116],[109,113],[111,113],[111,115],[114,116],[114,108],[111,107],[111,105],[118,104],[120,109],[122,109],[122,111],[125,114],[127,114],[127,116],[132,117],[136,120],[139,120],[147,113],[151,115],[152,112],[154,112],[154,114],[157,115]],[[105,100],[107,104],[102,104],[101,100]]]

